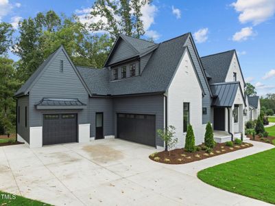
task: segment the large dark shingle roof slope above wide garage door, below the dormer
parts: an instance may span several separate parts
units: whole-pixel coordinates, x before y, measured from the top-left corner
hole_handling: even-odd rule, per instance
[[[158,44],[140,76],[110,81],[110,71],[77,67],[93,95],[165,93],[176,72],[189,33]],[[96,82],[96,83],[95,83]],[[97,87],[97,84],[99,87]]]

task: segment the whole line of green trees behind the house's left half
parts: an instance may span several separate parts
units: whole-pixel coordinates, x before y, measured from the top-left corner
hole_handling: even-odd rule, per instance
[[[63,45],[75,65],[101,68],[119,34],[145,34],[141,8],[150,0],[97,0],[86,23],[53,10],[19,21],[18,30],[0,23],[0,135],[14,133],[17,89]],[[99,21],[95,21],[98,20]],[[152,39],[149,39],[152,41]],[[14,61],[9,52],[19,57]]]

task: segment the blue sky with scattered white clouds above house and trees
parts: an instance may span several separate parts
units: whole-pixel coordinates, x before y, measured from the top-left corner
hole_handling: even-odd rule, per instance
[[[92,0],[0,0],[0,19],[16,27],[21,18],[54,10],[85,21],[82,17],[92,4]],[[145,38],[161,42],[191,32],[200,56],[236,49],[243,75],[259,95],[275,93],[275,0],[153,0],[142,11]]]

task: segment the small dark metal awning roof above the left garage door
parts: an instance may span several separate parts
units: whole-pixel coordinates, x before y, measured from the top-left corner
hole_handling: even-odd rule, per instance
[[[86,106],[77,98],[43,98],[40,102],[34,104],[35,106]]]

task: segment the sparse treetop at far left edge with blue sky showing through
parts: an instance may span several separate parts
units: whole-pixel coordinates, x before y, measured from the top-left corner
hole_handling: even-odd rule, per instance
[[[5,22],[0,22],[0,55],[8,52],[12,45],[12,25]]]

